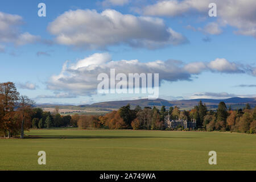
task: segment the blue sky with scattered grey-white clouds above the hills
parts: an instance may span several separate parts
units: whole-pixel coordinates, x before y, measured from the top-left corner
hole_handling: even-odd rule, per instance
[[[166,100],[256,97],[255,9],[254,0],[1,1],[0,82],[38,104],[147,97],[97,93],[110,69],[159,73]]]

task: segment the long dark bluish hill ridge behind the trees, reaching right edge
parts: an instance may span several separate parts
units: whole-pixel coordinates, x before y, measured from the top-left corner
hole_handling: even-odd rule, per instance
[[[141,99],[141,100],[126,100],[126,101],[110,101],[110,102],[99,102],[92,105],[80,105],[80,107],[99,107],[102,109],[118,109],[119,107],[125,106],[127,104],[130,104],[131,107],[135,107],[137,105],[141,107],[160,107],[162,105],[166,107],[170,106],[178,106],[181,109],[191,109],[193,106],[197,105],[199,101],[204,102],[209,109],[215,109],[217,108],[218,104],[223,101],[227,105],[232,106],[232,108],[242,108],[245,106],[246,103],[249,103],[251,107],[256,106],[256,98],[240,98],[240,97],[233,97],[233,98],[227,98],[223,100],[215,100],[215,99],[208,99],[208,98],[202,98],[202,99],[193,99],[193,100],[178,100],[178,101],[167,101],[163,99],[157,99],[157,100],[148,100],[148,99]]]

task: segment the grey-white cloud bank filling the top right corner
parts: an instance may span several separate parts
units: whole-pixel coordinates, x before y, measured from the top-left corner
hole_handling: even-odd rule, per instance
[[[158,1],[154,5],[144,7],[144,15],[181,16],[191,14],[208,15],[209,3],[216,3],[218,24],[229,24],[237,28],[236,34],[254,36],[256,38],[256,1],[255,0],[167,0]],[[214,28],[212,32],[210,27]],[[217,24],[209,24],[205,30],[211,34],[220,34]]]

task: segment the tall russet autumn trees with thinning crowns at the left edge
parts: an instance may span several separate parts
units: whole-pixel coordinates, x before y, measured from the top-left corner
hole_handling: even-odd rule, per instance
[[[34,101],[22,96],[13,82],[0,83],[0,135],[10,138],[30,128],[30,115]]]

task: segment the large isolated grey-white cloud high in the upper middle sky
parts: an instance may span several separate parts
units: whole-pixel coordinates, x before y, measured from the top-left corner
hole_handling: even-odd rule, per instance
[[[126,44],[155,49],[178,45],[187,39],[167,27],[162,19],[121,14],[115,10],[69,10],[48,26],[56,42],[86,49],[104,49]]]

